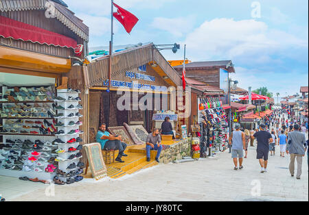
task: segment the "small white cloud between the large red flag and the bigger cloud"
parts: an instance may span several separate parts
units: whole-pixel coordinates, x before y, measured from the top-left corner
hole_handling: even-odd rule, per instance
[[[176,37],[189,33],[194,24],[194,17],[164,18],[156,17],[151,26],[163,31],[168,31]]]

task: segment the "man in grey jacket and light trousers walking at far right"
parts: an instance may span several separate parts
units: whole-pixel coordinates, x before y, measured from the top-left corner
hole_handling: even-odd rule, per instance
[[[286,153],[290,153],[290,175],[295,174],[295,159],[297,160],[297,175],[296,178],[301,178],[301,167],[303,157],[305,156],[306,137],[299,132],[299,125],[294,125],[294,130],[288,134],[288,144],[286,145]]]

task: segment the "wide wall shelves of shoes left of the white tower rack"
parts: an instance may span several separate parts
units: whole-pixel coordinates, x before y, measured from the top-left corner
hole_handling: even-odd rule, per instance
[[[56,169],[54,86],[1,87],[0,175],[50,180]]]

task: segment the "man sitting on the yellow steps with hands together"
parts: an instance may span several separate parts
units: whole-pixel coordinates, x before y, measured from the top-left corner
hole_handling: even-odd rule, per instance
[[[150,162],[150,150],[156,150],[156,160],[159,163],[159,157],[162,151],[161,136],[159,135],[159,129],[153,129],[152,133],[148,135],[146,140],[146,154],[147,162]]]

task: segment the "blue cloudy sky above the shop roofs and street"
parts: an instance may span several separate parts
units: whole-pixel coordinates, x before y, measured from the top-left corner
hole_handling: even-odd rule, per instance
[[[111,38],[111,1],[65,0],[90,27],[90,47]],[[307,0],[115,0],[139,18],[131,34],[115,20],[114,45],[181,44],[167,60],[232,60],[242,88],[266,86],[282,96],[308,86]],[[259,10],[260,9],[260,10]]]

